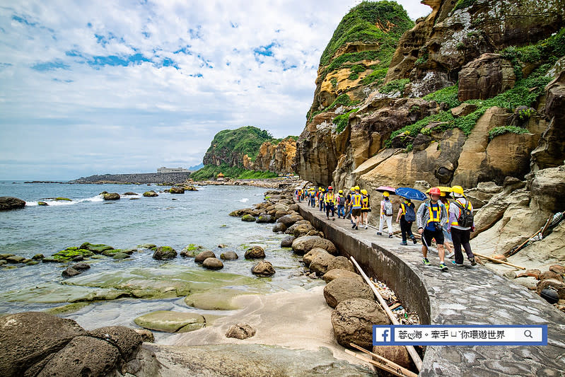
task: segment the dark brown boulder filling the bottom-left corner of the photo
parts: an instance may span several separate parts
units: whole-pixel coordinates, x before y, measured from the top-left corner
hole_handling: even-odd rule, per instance
[[[39,312],[0,317],[2,376],[24,376],[37,361],[47,359],[74,337],[86,335],[74,320]]]

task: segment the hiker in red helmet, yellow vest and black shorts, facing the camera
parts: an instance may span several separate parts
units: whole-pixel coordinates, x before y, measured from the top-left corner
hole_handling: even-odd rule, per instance
[[[422,246],[421,253],[423,255],[422,262],[429,266],[428,248],[431,245],[432,238],[436,239],[438,244],[439,268],[446,271],[448,267],[443,262],[445,258],[445,250],[443,250],[443,231],[441,226],[448,221],[448,212],[445,206],[439,201],[441,191],[438,187],[432,187],[430,190],[430,199],[420,204],[418,213],[416,214],[416,224],[418,233],[421,234]]]

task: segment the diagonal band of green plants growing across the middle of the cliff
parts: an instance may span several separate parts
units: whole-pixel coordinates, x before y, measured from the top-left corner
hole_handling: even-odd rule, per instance
[[[482,117],[482,115],[484,115],[484,112],[486,112],[489,108],[496,106],[513,111],[518,106],[530,107],[535,103],[537,98],[539,98],[540,95],[544,93],[545,86],[547,85],[547,83],[549,83],[549,81],[551,81],[550,78],[544,76],[546,72],[546,67],[542,66],[540,67],[540,69],[534,71],[530,75],[530,77],[528,77],[528,79],[517,81],[514,88],[496,95],[496,97],[494,98],[489,98],[488,100],[465,101],[465,103],[472,103],[474,105],[477,105],[477,110],[469,115],[466,115],[465,117],[455,118],[453,117],[453,115],[451,115],[450,111],[444,111],[436,115],[430,115],[429,117],[425,117],[418,122],[402,127],[401,129],[392,132],[390,138],[385,142],[385,146],[390,148],[392,146],[392,139],[400,134],[417,137],[417,135],[422,132],[422,129],[424,129],[424,127],[428,126],[432,122],[440,122],[440,124],[438,124],[438,126],[434,127],[433,129],[425,129],[422,133],[431,134],[431,132],[433,131],[458,128],[461,129],[462,132],[465,133],[465,135],[469,135],[474,128],[474,125],[477,124],[479,118]],[[450,91],[453,91],[453,87],[445,89],[450,89]],[[432,93],[431,95],[436,95],[436,93]],[[508,129],[506,130],[508,131]]]

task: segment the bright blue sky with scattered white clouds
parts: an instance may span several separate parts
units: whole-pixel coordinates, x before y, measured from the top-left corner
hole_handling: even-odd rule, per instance
[[[188,168],[247,125],[299,135],[359,2],[0,0],[0,180]]]

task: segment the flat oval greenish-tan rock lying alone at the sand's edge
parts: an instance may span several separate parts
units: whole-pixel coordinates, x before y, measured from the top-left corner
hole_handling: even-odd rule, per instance
[[[175,311],[154,311],[140,315],[134,322],[146,329],[163,332],[189,332],[206,325],[202,315]]]

